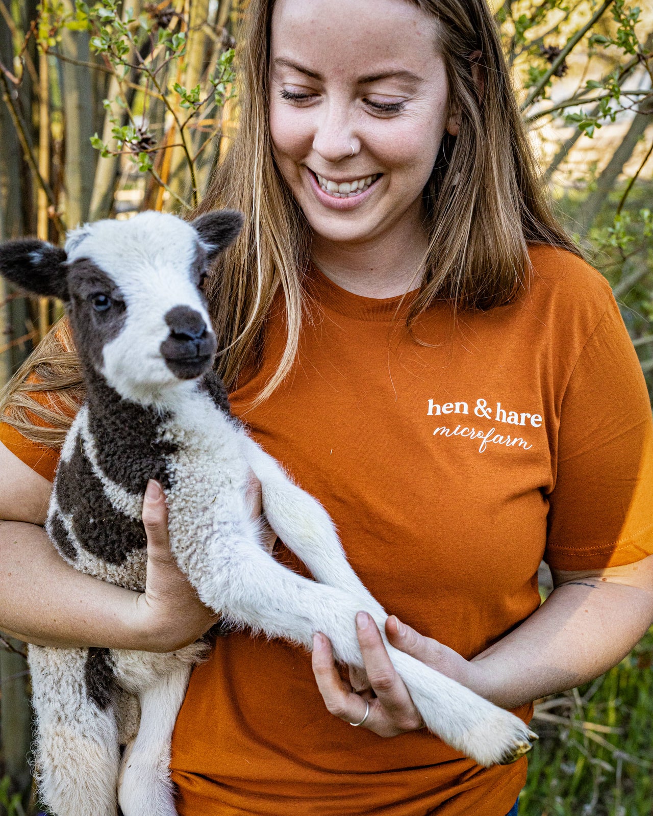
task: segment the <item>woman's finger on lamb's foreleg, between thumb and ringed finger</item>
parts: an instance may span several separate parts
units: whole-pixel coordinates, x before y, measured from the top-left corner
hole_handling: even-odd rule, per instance
[[[367,677],[384,713],[398,730],[420,728],[420,713],[393,666],[379,629],[369,614],[359,612],[356,615],[356,630]]]

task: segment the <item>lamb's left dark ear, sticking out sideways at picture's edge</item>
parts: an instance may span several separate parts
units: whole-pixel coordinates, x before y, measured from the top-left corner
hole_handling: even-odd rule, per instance
[[[67,300],[66,253],[36,238],[0,244],[0,274],[31,295]]]

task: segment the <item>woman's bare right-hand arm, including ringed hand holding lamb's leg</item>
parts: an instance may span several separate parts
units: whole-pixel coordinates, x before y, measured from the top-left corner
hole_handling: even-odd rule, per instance
[[[633,649],[653,620],[653,556],[606,570],[554,572],[553,580],[556,588],[530,618],[471,661],[395,617],[388,619],[386,634],[398,649],[482,697],[516,708],[606,672]],[[375,624],[359,614],[357,628],[371,686],[362,694],[341,680],[327,638],[316,637],[313,672],[328,710],[357,722],[367,698],[371,712],[365,726],[376,734],[420,728]]]

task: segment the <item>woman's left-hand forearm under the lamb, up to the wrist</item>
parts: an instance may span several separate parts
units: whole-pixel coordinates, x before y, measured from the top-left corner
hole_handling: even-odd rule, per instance
[[[38,645],[142,649],[138,594],[73,570],[42,527],[0,521],[0,629]]]

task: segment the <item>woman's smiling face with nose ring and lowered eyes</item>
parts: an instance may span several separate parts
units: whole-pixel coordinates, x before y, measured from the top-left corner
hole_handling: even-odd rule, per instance
[[[270,129],[313,232],[366,242],[412,220],[447,126],[432,17],[408,0],[278,0]]]

